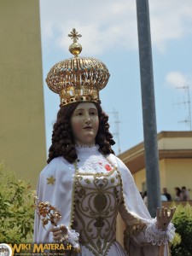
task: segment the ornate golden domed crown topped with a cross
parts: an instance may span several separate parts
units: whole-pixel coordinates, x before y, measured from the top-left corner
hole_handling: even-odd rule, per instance
[[[46,79],[48,87],[60,95],[60,107],[73,102],[100,102],[99,91],[108,84],[110,76],[108,68],[95,58],[79,57],[81,35],[75,28],[68,36],[73,39],[69,51],[74,57],[50,69]]]

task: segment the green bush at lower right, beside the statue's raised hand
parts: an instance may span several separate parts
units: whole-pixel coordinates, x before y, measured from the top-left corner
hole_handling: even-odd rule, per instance
[[[177,206],[172,219],[177,236],[172,242],[172,256],[192,256],[192,207]]]

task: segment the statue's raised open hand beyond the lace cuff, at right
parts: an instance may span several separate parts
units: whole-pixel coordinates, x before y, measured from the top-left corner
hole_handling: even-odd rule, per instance
[[[172,217],[175,213],[176,207],[171,208],[170,212],[168,212],[167,208],[162,207],[157,208],[156,218],[157,218],[157,226],[160,230],[166,230],[167,226],[172,221]]]

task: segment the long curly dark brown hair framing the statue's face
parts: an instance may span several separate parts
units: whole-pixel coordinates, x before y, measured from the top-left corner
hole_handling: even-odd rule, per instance
[[[114,144],[113,136],[109,132],[108,115],[102,110],[99,103],[95,103],[98,117],[99,129],[96,135],[96,144],[102,154],[114,154],[111,146]],[[57,113],[57,119],[53,126],[52,145],[49,148],[49,158],[47,163],[57,156],[63,156],[69,163],[78,159],[78,154],[73,141],[73,132],[71,130],[70,119],[79,102],[68,104],[61,107]]]

